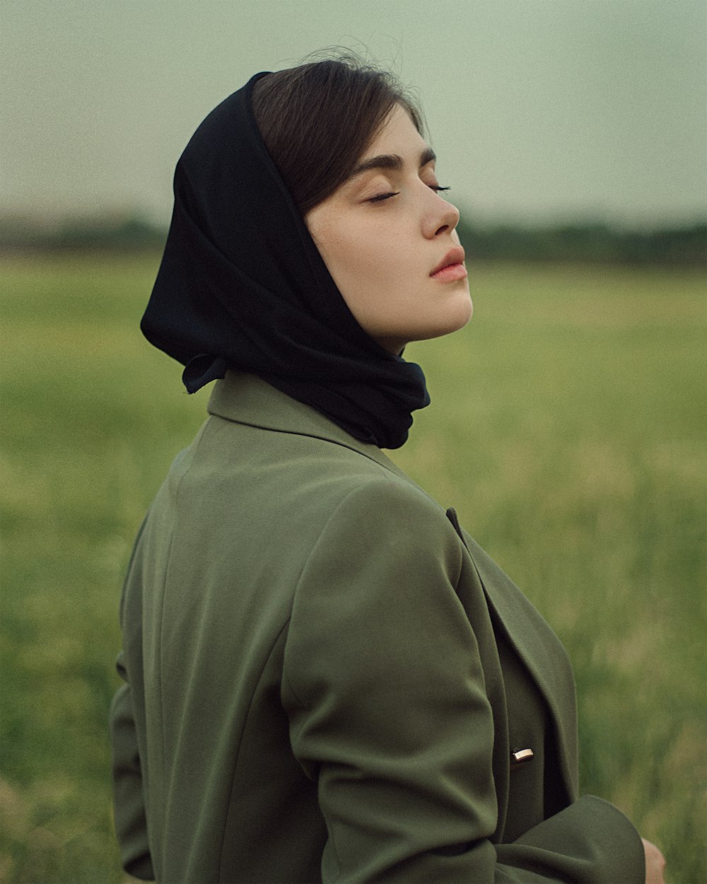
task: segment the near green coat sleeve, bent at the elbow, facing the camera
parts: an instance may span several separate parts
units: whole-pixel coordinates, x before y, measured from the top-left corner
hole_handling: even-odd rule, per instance
[[[323,881],[642,884],[635,829],[599,799],[490,841],[493,720],[461,556],[436,505],[381,479],[339,505],[300,575],[283,702],[318,784]]]

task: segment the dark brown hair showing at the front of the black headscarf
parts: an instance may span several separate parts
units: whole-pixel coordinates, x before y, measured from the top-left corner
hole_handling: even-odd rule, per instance
[[[270,73],[255,83],[262,140],[302,215],[351,175],[400,104],[422,133],[422,113],[391,72],[352,55]]]

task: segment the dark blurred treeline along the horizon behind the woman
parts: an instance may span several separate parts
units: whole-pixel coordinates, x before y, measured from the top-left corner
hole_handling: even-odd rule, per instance
[[[598,221],[546,226],[462,222],[469,256],[505,261],[560,261],[696,267],[707,263],[707,224],[637,230]],[[166,230],[140,215],[71,218],[46,224],[31,217],[0,217],[6,252],[125,252],[163,246]]]

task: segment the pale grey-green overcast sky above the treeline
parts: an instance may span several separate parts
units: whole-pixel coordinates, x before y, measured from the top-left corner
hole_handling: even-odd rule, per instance
[[[256,71],[365,48],[414,87],[477,221],[702,220],[702,0],[0,0],[6,210],[169,219],[201,119]]]

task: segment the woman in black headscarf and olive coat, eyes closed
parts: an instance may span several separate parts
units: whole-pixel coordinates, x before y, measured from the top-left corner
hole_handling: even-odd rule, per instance
[[[577,796],[557,637],[381,451],[429,402],[402,348],[471,316],[421,129],[389,75],[324,61],[255,76],[179,160],[142,328],[217,384],[125,580],[137,877],[662,880]]]

